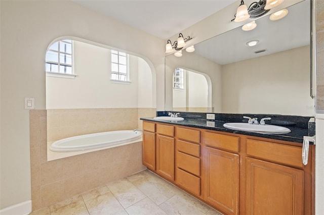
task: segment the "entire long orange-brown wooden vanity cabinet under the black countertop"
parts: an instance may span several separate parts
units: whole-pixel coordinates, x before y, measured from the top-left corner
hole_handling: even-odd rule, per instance
[[[143,164],[224,214],[314,214],[302,144],[143,122]]]

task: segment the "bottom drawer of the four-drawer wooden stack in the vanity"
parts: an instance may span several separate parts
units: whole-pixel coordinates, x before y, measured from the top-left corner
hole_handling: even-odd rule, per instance
[[[197,196],[200,195],[200,178],[177,168],[176,183]]]

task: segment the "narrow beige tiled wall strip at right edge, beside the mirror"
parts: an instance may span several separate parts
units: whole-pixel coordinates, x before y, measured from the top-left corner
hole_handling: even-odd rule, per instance
[[[316,112],[324,113],[324,1],[316,4]]]

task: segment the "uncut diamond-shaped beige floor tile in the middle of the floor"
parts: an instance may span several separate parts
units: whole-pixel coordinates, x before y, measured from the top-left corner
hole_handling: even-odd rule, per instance
[[[146,198],[146,195],[127,179],[109,183],[107,187],[124,208]]]

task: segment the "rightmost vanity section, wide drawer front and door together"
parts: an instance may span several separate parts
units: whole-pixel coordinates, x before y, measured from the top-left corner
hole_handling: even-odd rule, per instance
[[[247,214],[310,214],[302,148],[253,139],[246,146]]]

